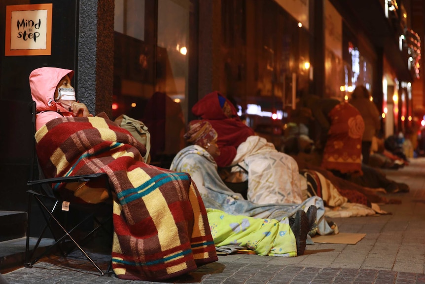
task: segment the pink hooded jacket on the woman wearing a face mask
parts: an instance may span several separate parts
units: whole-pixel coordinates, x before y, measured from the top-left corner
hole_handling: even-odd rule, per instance
[[[36,130],[55,118],[73,116],[72,112],[55,102],[54,99],[56,86],[67,75],[72,79],[74,72],[56,67],[41,67],[31,72],[31,96],[36,103],[35,111],[37,113]]]

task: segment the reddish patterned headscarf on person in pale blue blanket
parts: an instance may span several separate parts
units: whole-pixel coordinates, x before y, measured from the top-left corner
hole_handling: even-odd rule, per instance
[[[209,143],[217,138],[217,132],[208,121],[189,122],[188,129],[184,139],[203,148],[208,148]]]

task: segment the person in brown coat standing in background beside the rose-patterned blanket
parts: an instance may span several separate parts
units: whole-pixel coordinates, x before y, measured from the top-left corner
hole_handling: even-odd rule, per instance
[[[369,163],[370,147],[372,138],[381,129],[380,113],[378,108],[370,100],[371,96],[363,85],[356,86],[349,101],[360,113],[364,121],[364,133],[361,141],[362,163]]]

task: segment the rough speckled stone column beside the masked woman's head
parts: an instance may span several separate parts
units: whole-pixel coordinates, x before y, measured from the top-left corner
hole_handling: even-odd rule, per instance
[[[114,0],[80,0],[75,81],[92,114],[111,115],[114,7]]]

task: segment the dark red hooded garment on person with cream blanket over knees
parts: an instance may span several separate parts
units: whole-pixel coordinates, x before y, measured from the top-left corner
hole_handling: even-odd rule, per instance
[[[218,96],[214,91],[200,99],[192,108],[192,113],[203,120],[207,120],[217,131],[217,145],[220,156],[215,158],[218,166],[228,166],[236,156],[238,146],[247,140],[248,136],[255,135],[254,130],[242,122],[233,104],[226,99],[232,110],[232,118],[227,118],[221,109]],[[222,96],[224,97],[224,96]]]

